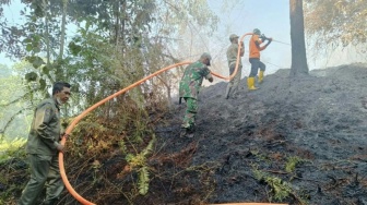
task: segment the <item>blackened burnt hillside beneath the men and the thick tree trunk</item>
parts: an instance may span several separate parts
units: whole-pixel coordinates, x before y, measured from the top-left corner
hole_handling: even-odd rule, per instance
[[[224,82],[204,87],[193,138],[179,137],[176,102],[156,129],[150,202],[366,205],[367,64],[288,73],[254,92],[244,79],[230,99]]]

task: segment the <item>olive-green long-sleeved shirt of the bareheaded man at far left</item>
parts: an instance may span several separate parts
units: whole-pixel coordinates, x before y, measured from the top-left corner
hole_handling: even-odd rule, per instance
[[[34,112],[26,153],[57,155],[56,143],[60,141],[60,109],[54,98],[43,100]]]

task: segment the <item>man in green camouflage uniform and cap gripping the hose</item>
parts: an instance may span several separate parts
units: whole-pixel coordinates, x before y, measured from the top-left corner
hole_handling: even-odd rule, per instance
[[[211,71],[208,69],[212,57],[204,52],[197,62],[191,63],[185,70],[183,76],[179,83],[179,102],[181,98],[187,104],[183,122],[181,125],[181,136],[193,136],[196,126],[196,118],[198,113],[198,95],[200,86],[205,77],[209,82],[213,82]]]

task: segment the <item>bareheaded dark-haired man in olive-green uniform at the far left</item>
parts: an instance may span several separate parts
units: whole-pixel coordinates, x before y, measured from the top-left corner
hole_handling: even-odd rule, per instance
[[[35,109],[26,144],[31,180],[23,190],[19,205],[34,205],[46,184],[45,205],[57,204],[63,190],[59,171],[58,152],[61,145],[60,106],[70,97],[70,84],[54,84],[52,97],[43,100]]]

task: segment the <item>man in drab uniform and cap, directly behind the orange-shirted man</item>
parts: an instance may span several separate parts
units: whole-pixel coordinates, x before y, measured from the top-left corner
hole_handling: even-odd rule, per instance
[[[229,36],[229,40],[230,40],[230,46],[227,49],[227,61],[228,61],[228,67],[229,67],[229,75],[233,74],[233,72],[236,69],[236,63],[237,63],[237,55],[238,55],[238,49],[239,49],[239,45],[238,45],[238,37],[236,34],[232,34]],[[238,85],[240,82],[240,77],[242,74],[242,62],[241,62],[241,57],[245,53],[245,49],[244,49],[244,44],[241,44],[241,48],[239,51],[239,62],[238,62],[238,70],[236,75],[229,81],[228,85],[227,85],[227,89],[225,93],[225,98],[228,99],[230,94],[236,94],[238,91]]]

